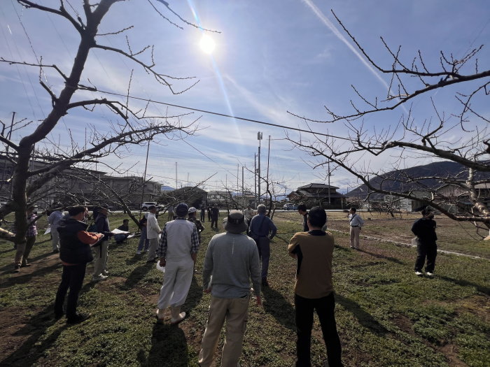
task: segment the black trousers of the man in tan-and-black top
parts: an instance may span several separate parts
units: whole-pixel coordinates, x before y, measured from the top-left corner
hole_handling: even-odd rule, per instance
[[[337,324],[335,322],[335,298],[333,292],[323,298],[303,298],[295,294],[296,318],[296,353],[297,367],[310,367],[311,329],[313,327],[313,312],[316,310],[320,319],[321,332],[327,348],[328,364],[330,367],[342,366]]]

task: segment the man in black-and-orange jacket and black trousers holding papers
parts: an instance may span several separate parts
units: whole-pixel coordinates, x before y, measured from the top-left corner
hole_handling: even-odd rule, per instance
[[[59,227],[59,259],[63,264],[62,280],[59,283],[55,299],[55,318],[63,316],[63,303],[66,292],[70,289],[66,302],[66,322],[78,324],[90,317],[90,314],[76,312],[78,294],[82,289],[83,278],[87,263],[92,261],[90,246],[104,237],[102,233],[89,233],[85,231],[87,224],[82,222],[88,215],[84,206],[74,206],[68,209],[68,220],[63,221]]]

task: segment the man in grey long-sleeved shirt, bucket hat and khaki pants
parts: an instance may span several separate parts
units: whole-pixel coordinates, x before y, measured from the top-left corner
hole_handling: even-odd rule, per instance
[[[226,232],[211,238],[202,271],[204,292],[211,293],[208,323],[199,354],[202,367],[211,366],[213,362],[225,320],[226,337],[221,366],[238,366],[248,319],[250,282],[257,305],[262,304],[258,250],[255,242],[242,233],[246,231],[244,215],[233,210],[223,222]]]

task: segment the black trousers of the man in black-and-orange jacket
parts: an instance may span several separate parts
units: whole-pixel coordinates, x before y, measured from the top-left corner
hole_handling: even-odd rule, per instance
[[[85,268],[87,268],[85,263],[63,266],[62,281],[59,283],[58,292],[56,292],[56,315],[62,315],[64,297],[68,289],[70,289],[68,300],[66,301],[66,318],[70,319],[76,316],[76,303],[80,289],[82,289],[83,278],[85,278]]]

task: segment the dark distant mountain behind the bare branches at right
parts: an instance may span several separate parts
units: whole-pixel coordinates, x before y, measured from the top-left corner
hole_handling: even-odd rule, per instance
[[[490,163],[490,162],[489,162]],[[384,173],[379,177],[369,180],[374,187],[393,192],[407,192],[410,189],[435,189],[444,185],[440,180],[431,177],[459,178],[464,180],[468,175],[468,168],[454,161],[440,161],[424,166],[414,166],[402,170]],[[420,180],[414,180],[419,178]],[[490,178],[489,173],[478,172],[475,175],[478,180]],[[346,194],[349,197],[365,197],[367,195],[366,185],[360,185]],[[381,195],[381,194],[380,194]],[[372,197],[376,194],[372,194]]]

